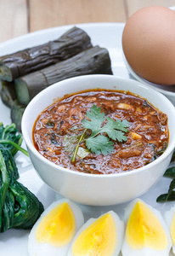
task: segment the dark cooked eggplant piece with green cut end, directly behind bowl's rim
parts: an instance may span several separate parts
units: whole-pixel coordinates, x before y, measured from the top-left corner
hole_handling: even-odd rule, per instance
[[[95,73],[112,74],[109,53],[107,49],[99,46],[86,49],[71,59],[15,79],[14,84],[19,102],[27,105],[37,93],[51,84],[64,79]]]

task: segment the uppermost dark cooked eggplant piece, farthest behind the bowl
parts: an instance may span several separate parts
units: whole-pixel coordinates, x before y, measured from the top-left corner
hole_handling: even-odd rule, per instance
[[[88,34],[73,27],[57,40],[2,56],[0,79],[11,82],[26,73],[69,59],[91,46]]]

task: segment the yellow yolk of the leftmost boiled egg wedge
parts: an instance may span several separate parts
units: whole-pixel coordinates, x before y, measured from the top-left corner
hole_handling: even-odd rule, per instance
[[[75,234],[76,221],[71,207],[64,202],[43,217],[37,226],[36,239],[40,243],[65,246]]]

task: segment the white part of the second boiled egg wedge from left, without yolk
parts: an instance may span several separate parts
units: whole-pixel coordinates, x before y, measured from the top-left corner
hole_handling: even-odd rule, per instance
[[[117,236],[115,252],[113,254],[106,255],[106,256],[118,256],[120,251],[121,251],[121,245],[122,245],[123,236],[124,236],[124,222],[121,221],[121,219],[116,214],[116,212],[110,211],[110,212],[106,212],[106,213],[110,213],[110,215],[112,216],[112,218],[115,221],[115,224],[116,224],[116,236]],[[104,213],[104,214],[106,214],[106,213]],[[99,216],[99,218],[102,217],[104,214]],[[69,249],[69,252],[68,252],[67,256],[76,256],[74,253],[72,253],[72,247],[73,247],[74,242],[76,241],[76,238],[81,235],[83,230],[86,230],[88,228],[88,226],[90,224],[93,224],[97,219],[98,218],[89,218],[88,221],[85,224],[82,225],[82,228],[77,231],[76,236],[74,237],[74,239],[71,242],[71,247]],[[79,254],[79,256],[80,255],[81,254]],[[99,254],[97,254],[97,255],[99,255]],[[81,256],[85,256],[85,255],[81,255]],[[88,255],[86,255],[86,256],[88,256]]]

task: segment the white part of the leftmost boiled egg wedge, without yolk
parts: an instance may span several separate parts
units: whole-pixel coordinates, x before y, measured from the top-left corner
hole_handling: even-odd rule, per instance
[[[75,235],[76,235],[76,231],[82,227],[82,224],[84,224],[82,209],[78,207],[76,203],[68,199],[61,199],[59,201],[54,201],[44,212],[42,212],[42,215],[40,216],[40,218],[38,218],[37,223],[34,224],[33,228],[31,229],[31,233],[28,239],[28,253],[30,256],[48,256],[48,255],[65,256],[67,254],[69,247],[71,245],[71,241],[65,246],[54,247],[49,243],[39,243],[35,237],[37,226],[38,224],[40,224],[42,218],[47,216],[48,213],[54,209],[54,207],[57,207],[59,204],[62,204],[64,202],[67,202],[69,204],[74,214],[75,221],[76,221]]]

